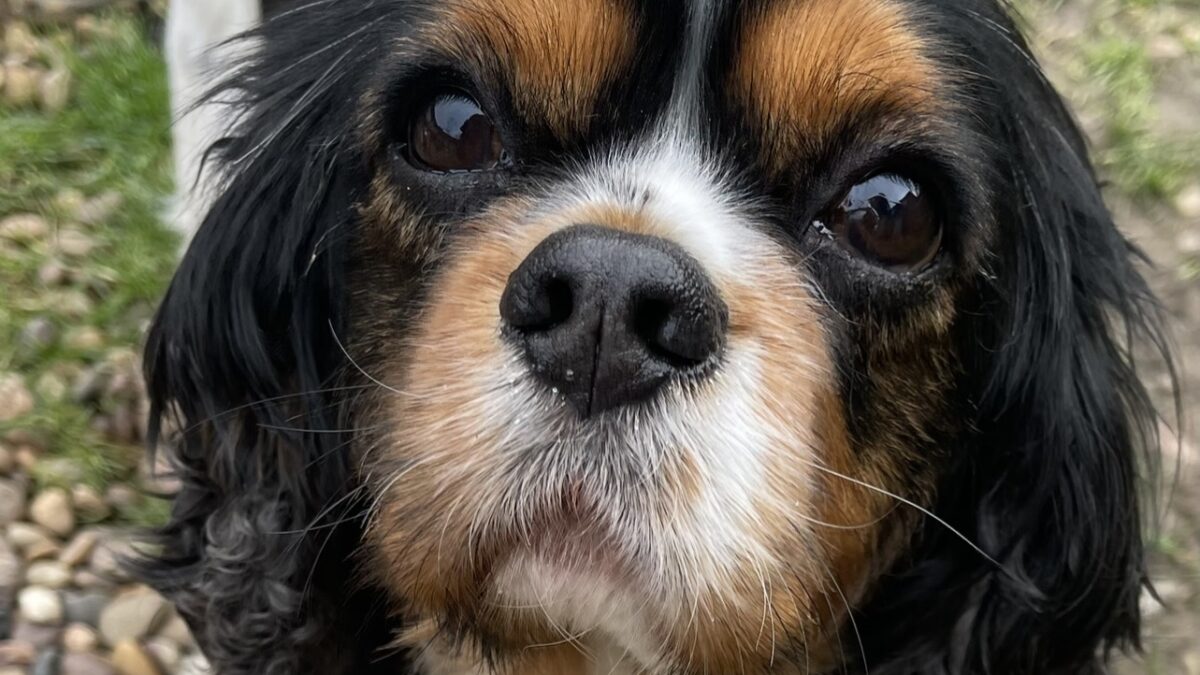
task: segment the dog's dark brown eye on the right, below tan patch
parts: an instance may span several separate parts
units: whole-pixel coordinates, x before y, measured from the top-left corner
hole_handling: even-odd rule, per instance
[[[942,244],[942,223],[929,192],[882,173],[851,187],[815,225],[866,261],[893,271],[918,271]]]

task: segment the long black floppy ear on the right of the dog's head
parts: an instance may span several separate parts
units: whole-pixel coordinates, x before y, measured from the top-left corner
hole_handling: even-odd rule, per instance
[[[947,20],[978,35],[972,71],[1003,73],[973,92],[998,138],[997,235],[960,304],[973,431],[935,512],[998,566],[926,522],[859,626],[871,673],[1096,673],[1138,646],[1146,580],[1139,471],[1156,465],[1139,460],[1157,450],[1157,419],[1130,342],[1170,359],[1079,130],[1012,23],[971,5]]]

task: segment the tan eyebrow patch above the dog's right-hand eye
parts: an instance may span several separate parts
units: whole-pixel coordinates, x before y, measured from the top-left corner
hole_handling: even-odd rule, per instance
[[[785,0],[748,18],[730,88],[775,168],[864,112],[937,109],[936,67],[906,22],[893,0]]]

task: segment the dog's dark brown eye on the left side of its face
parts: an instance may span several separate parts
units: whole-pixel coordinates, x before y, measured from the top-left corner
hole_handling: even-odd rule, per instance
[[[426,171],[487,171],[508,161],[492,118],[458,92],[434,96],[418,110],[408,147],[413,163]]]

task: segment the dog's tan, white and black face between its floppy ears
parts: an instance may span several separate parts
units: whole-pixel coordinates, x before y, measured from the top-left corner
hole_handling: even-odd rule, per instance
[[[676,10],[434,7],[364,97],[367,567],[502,661],[822,663],[960,424],[994,197],[938,43],[883,0]]]

